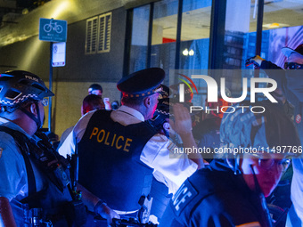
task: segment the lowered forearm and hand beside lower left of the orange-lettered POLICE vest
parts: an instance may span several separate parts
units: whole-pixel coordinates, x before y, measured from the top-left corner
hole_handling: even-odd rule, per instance
[[[78,184],[77,190],[82,191],[82,201],[88,210],[94,211],[94,213],[101,215],[102,218],[107,220],[109,225],[112,222],[112,218],[119,218],[119,215],[108,207],[106,203],[102,201],[102,199],[94,196],[94,194],[86,190],[85,187]]]

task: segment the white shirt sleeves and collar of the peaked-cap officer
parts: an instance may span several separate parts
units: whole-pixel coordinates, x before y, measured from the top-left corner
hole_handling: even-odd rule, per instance
[[[94,110],[95,111],[95,110]],[[75,143],[80,142],[85,131],[86,126],[92,118],[94,111],[88,112],[85,116],[80,118],[73,131],[66,138],[65,142],[59,148],[59,153],[67,157],[75,152]],[[144,121],[143,115],[130,107],[120,106],[119,109],[111,112],[111,119],[119,122],[123,126],[137,124]],[[168,181],[176,184],[177,188],[192,175],[196,169],[197,164],[186,157],[186,154],[178,154],[177,158],[171,158],[172,152],[168,149],[171,147],[171,142],[165,135],[155,134],[145,144],[140,160],[150,166],[155,171],[163,174]],[[170,192],[176,192],[176,186],[169,188]]]

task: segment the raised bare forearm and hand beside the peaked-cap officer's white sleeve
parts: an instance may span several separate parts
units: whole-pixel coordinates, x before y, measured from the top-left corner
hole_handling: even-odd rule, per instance
[[[169,124],[180,135],[184,148],[191,148],[192,150],[195,148],[197,150],[198,147],[192,135],[192,118],[188,109],[179,103],[176,103],[173,109],[175,122],[169,120]],[[204,167],[203,158],[199,152],[192,152],[188,157],[198,165],[198,169]]]

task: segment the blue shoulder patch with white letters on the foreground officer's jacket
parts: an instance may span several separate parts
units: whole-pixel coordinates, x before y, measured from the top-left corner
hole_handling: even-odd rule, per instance
[[[188,181],[185,181],[176,194],[173,196],[170,201],[170,205],[175,213],[175,215],[179,216],[181,212],[184,210],[192,199],[194,199],[198,195],[198,191],[196,191],[192,184]]]

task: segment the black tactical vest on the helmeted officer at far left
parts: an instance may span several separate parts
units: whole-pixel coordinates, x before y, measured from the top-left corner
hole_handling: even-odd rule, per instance
[[[51,172],[51,170],[48,171],[42,162],[34,157],[34,153],[39,149],[35,142],[30,141],[25,134],[5,126],[0,126],[0,131],[11,134],[19,146],[28,175],[29,196],[20,201],[12,199],[10,202],[17,226],[32,226],[33,222],[37,222],[37,226],[51,226],[46,224],[49,221],[54,227],[72,226],[74,220],[71,219],[74,216],[71,214],[73,207],[70,207],[72,197],[69,188],[67,185],[60,185],[58,175],[54,174],[53,171]],[[33,172],[33,166],[36,166],[37,171],[43,177],[43,179],[39,179],[44,183],[42,191],[37,191],[37,176]],[[66,177],[66,182],[69,182],[70,173],[68,169],[62,167],[56,173],[61,174],[64,178]],[[40,222],[45,222],[45,225]]]

